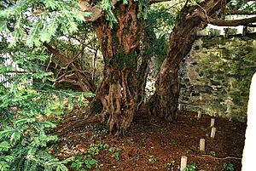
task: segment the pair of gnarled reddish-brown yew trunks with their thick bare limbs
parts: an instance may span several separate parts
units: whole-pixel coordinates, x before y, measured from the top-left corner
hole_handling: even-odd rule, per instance
[[[148,1],[149,4],[160,2],[162,1]],[[118,22],[112,23],[113,26],[110,27],[109,21],[102,14],[102,9],[98,6],[88,7],[86,1],[80,1],[82,10],[94,12],[85,20],[94,22],[105,61],[105,71],[104,79],[96,91],[96,98],[91,104],[92,110],[87,119],[74,123],[67,130],[84,123],[106,121],[112,134],[123,134],[130,127],[137,109],[137,88],[139,88],[137,77],[139,75],[135,72],[137,68],[136,49],[142,40],[143,31],[143,20],[138,18],[137,14],[141,11],[139,11],[138,3],[132,0],[127,4],[115,1],[112,3],[115,7],[113,14]],[[255,21],[255,18],[224,20],[226,3],[229,1],[207,0],[201,3],[189,3],[189,1],[184,3],[168,40],[166,59],[160,67],[160,74],[155,84],[155,94],[149,101],[150,111],[158,111],[160,117],[164,117],[167,121],[172,122],[176,119],[180,90],[179,64],[189,54],[197,31],[202,30],[209,23],[217,26],[239,26]],[[147,56],[144,58],[148,61]],[[148,63],[144,64],[147,68]],[[143,76],[144,79],[146,75]],[[96,113],[95,107],[100,111]]]

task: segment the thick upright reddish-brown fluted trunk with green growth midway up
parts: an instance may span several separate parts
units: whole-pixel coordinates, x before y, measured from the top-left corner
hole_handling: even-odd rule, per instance
[[[96,100],[102,103],[99,116],[112,134],[123,134],[130,127],[137,106],[137,54],[142,23],[137,19],[137,2],[115,4],[117,24],[110,28],[105,18],[94,22],[105,60],[102,84]]]

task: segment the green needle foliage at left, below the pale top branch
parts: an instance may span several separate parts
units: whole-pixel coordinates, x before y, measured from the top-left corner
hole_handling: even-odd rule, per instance
[[[3,54],[2,62],[8,56]],[[93,94],[54,88],[52,73],[42,67],[48,60],[42,51],[38,54],[35,49],[20,48],[9,56],[22,72],[17,72],[14,65],[1,64],[0,75],[11,87],[0,83],[0,170],[66,171],[65,163],[73,158],[60,161],[49,153],[49,145],[58,138],[48,134],[56,127],[48,117],[72,110],[73,103],[82,105],[84,96]],[[25,83],[27,80],[31,82]],[[64,104],[65,99],[68,104]]]

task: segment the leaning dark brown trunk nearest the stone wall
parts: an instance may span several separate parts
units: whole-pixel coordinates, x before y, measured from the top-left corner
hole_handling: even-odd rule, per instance
[[[155,84],[156,91],[150,100],[150,110],[160,113],[167,121],[175,121],[177,100],[180,92],[178,77],[179,64],[189,54],[195,42],[196,32],[207,26],[201,16],[217,14],[221,8],[220,0],[208,0],[195,6],[185,6],[181,10],[180,18],[169,37],[169,47],[166,59],[160,67],[160,75]]]

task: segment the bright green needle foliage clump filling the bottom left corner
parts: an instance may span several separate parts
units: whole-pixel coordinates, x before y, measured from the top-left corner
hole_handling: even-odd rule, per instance
[[[45,134],[45,129],[54,128],[55,124],[38,122],[36,117],[27,115],[11,123],[0,131],[0,170],[67,170],[64,164],[72,158],[59,161],[47,150],[49,142],[57,137]]]

